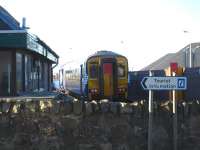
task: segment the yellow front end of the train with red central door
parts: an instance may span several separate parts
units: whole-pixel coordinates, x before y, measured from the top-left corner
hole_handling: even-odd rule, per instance
[[[97,98],[127,98],[128,62],[119,54],[100,51],[87,60],[88,96]]]

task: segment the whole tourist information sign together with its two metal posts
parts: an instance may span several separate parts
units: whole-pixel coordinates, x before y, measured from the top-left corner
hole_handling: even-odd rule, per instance
[[[149,77],[144,77],[141,81],[144,90],[149,90],[149,130],[148,130],[148,150],[152,150],[152,120],[153,120],[153,90],[172,90],[173,94],[173,149],[177,150],[177,101],[176,90],[187,89],[187,78],[173,76],[155,77],[150,71]]]

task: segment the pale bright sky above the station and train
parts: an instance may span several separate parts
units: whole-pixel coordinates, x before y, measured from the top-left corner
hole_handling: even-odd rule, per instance
[[[60,56],[59,67],[73,68],[98,50],[111,50],[126,56],[136,71],[200,42],[199,0],[0,0],[0,5],[19,22],[26,17],[29,32]]]

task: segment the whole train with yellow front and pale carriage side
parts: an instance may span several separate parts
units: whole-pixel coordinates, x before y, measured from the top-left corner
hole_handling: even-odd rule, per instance
[[[126,100],[128,60],[112,51],[97,51],[79,68],[60,68],[59,85],[88,100]]]

